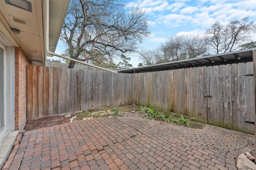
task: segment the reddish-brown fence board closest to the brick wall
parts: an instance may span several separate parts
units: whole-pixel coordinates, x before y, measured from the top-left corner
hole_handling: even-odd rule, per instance
[[[33,118],[33,66],[27,65],[26,91],[27,91],[27,119]]]

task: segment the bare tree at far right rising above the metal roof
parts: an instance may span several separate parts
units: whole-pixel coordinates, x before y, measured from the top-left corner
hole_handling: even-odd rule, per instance
[[[226,26],[215,21],[212,27],[206,31],[209,44],[215,53],[226,53],[236,50],[241,43],[250,40],[251,33],[256,32],[254,21],[246,16],[242,20],[230,21]]]

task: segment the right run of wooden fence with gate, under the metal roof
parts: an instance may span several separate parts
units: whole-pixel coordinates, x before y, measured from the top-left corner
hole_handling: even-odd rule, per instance
[[[252,62],[135,74],[135,101],[254,134]]]

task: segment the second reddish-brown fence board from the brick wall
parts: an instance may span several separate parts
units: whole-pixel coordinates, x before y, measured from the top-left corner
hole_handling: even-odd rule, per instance
[[[33,111],[32,117],[38,117],[38,66],[33,65],[33,78],[32,78],[32,88],[33,88]]]

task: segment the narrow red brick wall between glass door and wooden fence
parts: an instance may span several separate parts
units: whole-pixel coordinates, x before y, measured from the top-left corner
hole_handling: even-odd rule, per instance
[[[26,122],[26,66],[30,61],[20,47],[15,48],[15,130]]]

